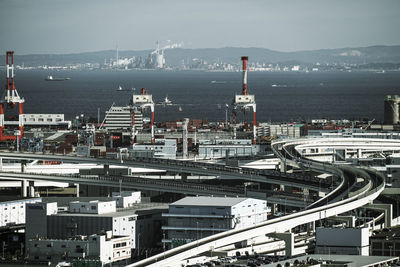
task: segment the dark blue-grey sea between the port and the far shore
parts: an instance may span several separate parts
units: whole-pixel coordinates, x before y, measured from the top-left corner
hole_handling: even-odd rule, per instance
[[[168,96],[173,103],[156,106],[156,122],[225,121],[226,114],[231,116],[234,95],[242,90],[241,72],[17,69],[15,73],[25,113],[63,113],[66,119],[83,114],[97,121],[99,112],[102,121],[112,104],[127,105],[133,94],[146,88],[155,102]],[[48,75],[70,80],[45,81]],[[0,82],[6,84],[3,76]],[[119,86],[123,91],[117,90]],[[400,72],[249,72],[248,91],[255,95],[259,122],[382,121],[386,95],[400,95]],[[150,117],[149,111],[146,114]],[[239,120],[251,118],[251,112],[238,114]]]

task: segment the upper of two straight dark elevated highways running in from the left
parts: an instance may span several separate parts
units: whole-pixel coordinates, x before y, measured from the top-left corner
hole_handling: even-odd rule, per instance
[[[149,169],[163,169],[177,173],[192,173],[197,175],[218,176],[220,179],[238,179],[255,183],[307,188],[314,191],[328,191],[330,181],[317,179],[309,175],[281,173],[273,170],[258,170],[244,167],[229,167],[219,164],[193,162],[171,159],[135,158],[120,154],[118,159],[94,158],[80,156],[65,156],[41,153],[14,153],[0,152],[0,158],[18,160],[47,160],[71,163],[96,163],[101,165],[120,165],[125,167],[142,167]]]

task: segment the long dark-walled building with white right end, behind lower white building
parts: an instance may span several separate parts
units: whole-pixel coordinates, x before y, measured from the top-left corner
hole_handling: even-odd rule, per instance
[[[115,201],[74,201],[68,210],[60,212],[56,202],[28,204],[26,240],[67,239],[112,231],[113,236],[128,236],[134,248],[137,215],[132,210],[117,211]]]

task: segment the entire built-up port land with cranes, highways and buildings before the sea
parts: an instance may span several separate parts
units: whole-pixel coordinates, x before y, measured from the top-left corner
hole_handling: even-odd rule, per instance
[[[229,119],[156,122],[158,103],[142,88],[126,106],[112,104],[102,122],[68,121],[24,113],[13,55],[0,103],[1,262],[398,262],[397,95],[384,99],[382,123],[257,122],[243,56]]]

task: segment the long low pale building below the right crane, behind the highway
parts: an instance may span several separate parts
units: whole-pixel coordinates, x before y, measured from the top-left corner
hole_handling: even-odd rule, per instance
[[[257,154],[259,147],[250,139],[199,140],[199,158],[212,159],[228,156],[250,156]]]

